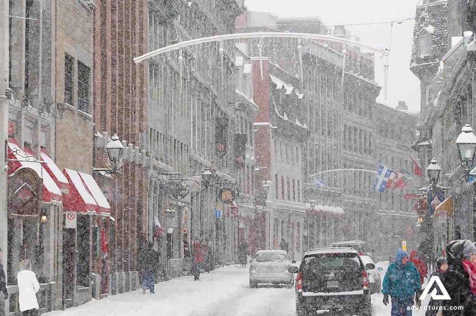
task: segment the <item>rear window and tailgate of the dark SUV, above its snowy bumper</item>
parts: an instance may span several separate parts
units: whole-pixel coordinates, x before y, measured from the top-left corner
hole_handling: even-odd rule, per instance
[[[356,253],[323,253],[304,257],[299,273],[303,291],[347,292],[362,289],[362,270]]]

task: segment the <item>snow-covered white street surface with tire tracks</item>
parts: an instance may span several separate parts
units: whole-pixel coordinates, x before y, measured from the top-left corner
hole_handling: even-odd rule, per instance
[[[248,267],[230,266],[203,273],[201,281],[185,276],[156,285],[156,293],[141,290],[91,301],[46,316],[293,316],[294,289],[249,288]],[[382,294],[372,295],[373,316],[390,316]],[[416,311],[414,316],[423,316]]]

